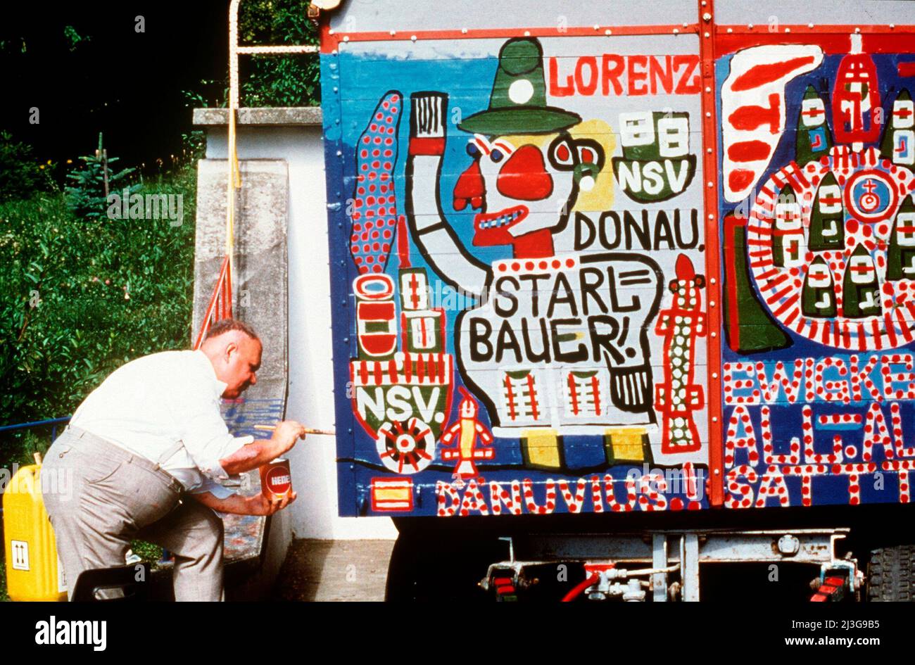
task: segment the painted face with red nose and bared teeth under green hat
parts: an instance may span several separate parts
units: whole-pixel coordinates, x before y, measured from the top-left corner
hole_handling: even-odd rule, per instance
[[[594,186],[602,160],[597,143],[565,132],[468,141],[473,162],[454,188],[456,210],[479,209],[473,244],[518,245],[535,231],[561,231],[578,189]],[[544,243],[552,254],[552,242]],[[517,255],[517,252],[516,252]],[[527,252],[527,255],[532,255]]]

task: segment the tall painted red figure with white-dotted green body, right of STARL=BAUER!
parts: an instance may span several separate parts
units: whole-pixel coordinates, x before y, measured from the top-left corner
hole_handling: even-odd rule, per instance
[[[702,447],[693,412],[705,404],[702,386],[693,381],[695,340],[705,336],[701,293],[705,277],[695,274],[685,254],[677,257],[676,275],[670,284],[673,303],[662,310],[654,328],[664,338],[664,381],[654,391],[655,409],[663,414],[664,454],[692,453]]]

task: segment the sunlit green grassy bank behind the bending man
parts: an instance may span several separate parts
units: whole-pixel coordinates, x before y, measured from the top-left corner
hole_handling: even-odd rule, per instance
[[[188,164],[137,191],[180,194],[180,226],[87,220],[61,194],[0,204],[0,424],[68,415],[124,362],[188,348],[196,186]],[[0,466],[38,434],[0,434]]]

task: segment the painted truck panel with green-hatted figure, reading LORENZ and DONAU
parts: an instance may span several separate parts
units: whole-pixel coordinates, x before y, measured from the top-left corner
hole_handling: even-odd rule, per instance
[[[561,38],[325,58],[342,510],[707,504],[697,59],[625,41],[606,67]]]

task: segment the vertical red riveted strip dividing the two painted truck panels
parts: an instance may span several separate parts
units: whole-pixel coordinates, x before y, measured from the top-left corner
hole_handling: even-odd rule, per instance
[[[705,293],[708,316],[705,349],[708,367],[708,502],[713,508],[725,502],[724,443],[721,411],[721,260],[718,223],[718,148],[715,106],[715,0],[698,0],[699,20],[705,26],[699,35],[702,67],[702,175],[705,215]]]

